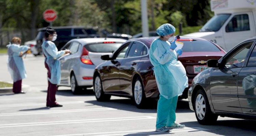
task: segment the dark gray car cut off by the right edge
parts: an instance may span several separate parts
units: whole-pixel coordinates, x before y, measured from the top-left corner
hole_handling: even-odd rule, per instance
[[[188,90],[191,110],[200,124],[218,116],[256,119],[256,37],[247,39],[199,73]]]

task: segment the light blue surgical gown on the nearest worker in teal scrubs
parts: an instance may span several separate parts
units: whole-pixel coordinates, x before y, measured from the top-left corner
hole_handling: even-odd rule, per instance
[[[166,99],[182,95],[188,87],[186,70],[170,45],[169,41],[156,39],[150,47],[150,62],[154,66],[158,90]]]

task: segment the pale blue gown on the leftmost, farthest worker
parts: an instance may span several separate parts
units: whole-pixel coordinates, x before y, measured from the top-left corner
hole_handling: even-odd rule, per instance
[[[27,73],[24,67],[24,63],[22,57],[19,56],[20,52],[26,52],[29,47],[28,46],[19,46],[16,44],[7,45],[8,48],[8,71],[11,74],[13,82],[25,79],[27,77]]]

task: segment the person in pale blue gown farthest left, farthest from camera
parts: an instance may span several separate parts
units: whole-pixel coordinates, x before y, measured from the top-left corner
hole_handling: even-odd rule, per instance
[[[12,44],[7,45],[8,48],[8,71],[13,80],[14,94],[25,94],[22,90],[22,79],[27,77],[22,56],[30,49],[28,46],[20,46],[21,39],[19,37],[12,38]]]

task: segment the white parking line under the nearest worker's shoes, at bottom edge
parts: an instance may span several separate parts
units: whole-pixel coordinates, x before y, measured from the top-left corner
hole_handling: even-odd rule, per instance
[[[205,131],[207,129],[204,128],[184,128],[184,129],[172,129],[169,133],[173,132],[189,132],[189,131]],[[150,132],[153,131],[153,132]],[[139,133],[134,133],[130,134],[133,132],[139,132]],[[113,134],[113,133],[118,133],[118,134]],[[142,135],[142,134],[167,134],[167,133],[162,133],[162,132],[156,132],[155,130],[134,130],[134,131],[117,131],[117,132],[101,132],[101,133],[84,133],[84,134],[69,134],[69,135],[54,135],[54,136],[78,136],[78,135],[91,135],[91,136],[116,136],[116,135]],[[97,134],[104,134],[104,135],[97,135]]]

